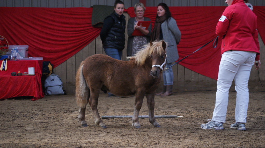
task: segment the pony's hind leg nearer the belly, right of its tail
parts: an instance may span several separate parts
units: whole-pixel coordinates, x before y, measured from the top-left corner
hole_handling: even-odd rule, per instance
[[[98,98],[99,98],[99,90],[95,90],[95,91],[90,90],[90,98],[88,102],[94,114],[95,124],[98,124],[100,127],[107,128],[99,116]]]

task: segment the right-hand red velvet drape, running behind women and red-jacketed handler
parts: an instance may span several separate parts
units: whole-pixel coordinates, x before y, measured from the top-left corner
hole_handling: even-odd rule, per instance
[[[172,17],[176,20],[181,32],[181,40],[178,47],[179,60],[191,54],[217,35],[215,26],[226,7],[169,7]],[[152,27],[156,17],[157,7],[146,7],[144,17],[149,17]],[[254,6],[253,12],[258,17],[258,31],[265,41],[265,6]],[[127,9],[130,17],[135,17],[134,8]],[[219,63],[221,60],[221,42],[213,48],[213,43],[193,53],[179,64],[201,75],[217,80]],[[264,42],[265,43],[265,42]]]

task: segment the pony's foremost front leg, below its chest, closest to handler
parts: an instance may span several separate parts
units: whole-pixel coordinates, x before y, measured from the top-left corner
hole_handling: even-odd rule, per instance
[[[149,122],[154,125],[154,127],[160,127],[154,118],[154,93],[155,91],[146,95],[147,106],[149,109]]]

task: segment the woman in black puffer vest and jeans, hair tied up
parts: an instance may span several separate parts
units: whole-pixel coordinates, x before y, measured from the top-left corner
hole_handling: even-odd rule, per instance
[[[123,15],[124,3],[116,0],[114,12],[104,19],[100,31],[100,39],[105,53],[115,59],[121,60],[122,50],[125,45],[125,16]]]

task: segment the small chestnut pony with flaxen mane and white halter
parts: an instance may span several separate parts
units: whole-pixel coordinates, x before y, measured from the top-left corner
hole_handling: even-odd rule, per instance
[[[89,103],[94,114],[95,124],[106,128],[98,113],[99,91],[110,91],[117,96],[135,95],[133,125],[140,127],[138,116],[147,98],[149,122],[160,127],[154,118],[154,93],[161,79],[166,61],[166,43],[150,42],[129,61],[121,61],[106,55],[93,55],[81,62],[76,73],[76,101],[80,106],[78,120],[85,121],[86,105]],[[160,66],[161,65],[161,66]]]

